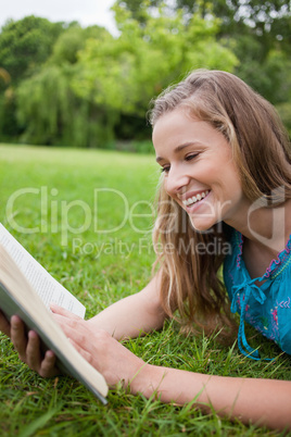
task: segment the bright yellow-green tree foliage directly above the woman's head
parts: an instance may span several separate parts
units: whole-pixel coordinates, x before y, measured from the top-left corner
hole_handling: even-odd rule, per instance
[[[126,9],[114,7],[121,35],[87,42],[79,53],[76,92],[93,95],[98,104],[122,113],[144,116],[151,98],[186,72],[202,66],[233,68],[236,57],[215,41],[216,20],[194,14],[186,24],[180,12],[168,16],[162,8],[152,16],[147,4],[140,4],[147,26]]]

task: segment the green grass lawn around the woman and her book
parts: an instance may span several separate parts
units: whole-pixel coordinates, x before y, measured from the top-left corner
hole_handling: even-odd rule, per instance
[[[90,317],[139,290],[150,277],[154,260],[150,215],[157,179],[153,155],[1,146],[0,220],[83,301]],[[100,188],[115,191],[98,191],[100,197],[94,202],[94,190]],[[22,196],[12,202],[15,192]],[[13,208],[7,210],[9,204]],[[94,216],[98,229],[93,227]],[[69,233],[65,230],[67,224]],[[16,225],[40,227],[41,232],[25,234],[15,229]],[[119,229],[100,233],[114,227]],[[276,360],[255,362],[242,357],[236,345],[227,348],[215,338],[184,337],[175,323],[126,346],[156,365],[217,375],[291,379],[290,358],[278,353],[275,345],[251,327],[246,335],[252,346],[262,345],[263,353],[277,357]],[[280,435],[216,414],[203,415],[191,405],[168,405],[156,399],[134,397],[119,387],[110,392],[109,404],[103,407],[74,379],[40,378],[18,361],[5,336],[1,336],[0,347],[1,436]]]

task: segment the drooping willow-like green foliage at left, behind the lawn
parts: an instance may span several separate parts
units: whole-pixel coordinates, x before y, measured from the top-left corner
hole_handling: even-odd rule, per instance
[[[102,147],[112,139],[114,114],[79,99],[71,83],[75,67],[47,65],[17,89],[23,142]]]

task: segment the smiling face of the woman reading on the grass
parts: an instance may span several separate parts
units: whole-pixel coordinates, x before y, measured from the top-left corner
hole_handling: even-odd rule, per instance
[[[176,109],[157,120],[153,145],[165,174],[164,187],[187,211],[193,227],[206,230],[220,221],[236,227],[249,202],[224,135]]]

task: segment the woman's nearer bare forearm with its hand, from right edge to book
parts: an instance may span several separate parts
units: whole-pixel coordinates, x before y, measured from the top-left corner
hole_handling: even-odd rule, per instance
[[[156,396],[163,402],[193,407],[243,423],[291,429],[291,382],[226,377],[160,367],[144,363],[107,332],[86,322],[55,315],[79,353],[105,377],[110,386],[124,382],[132,394]]]

